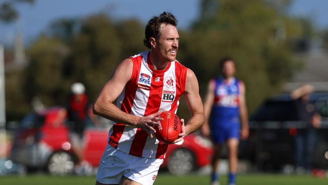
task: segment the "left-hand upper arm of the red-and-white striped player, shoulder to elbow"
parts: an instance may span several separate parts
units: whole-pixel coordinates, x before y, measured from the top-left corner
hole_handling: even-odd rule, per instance
[[[133,71],[131,59],[125,59],[114,71],[110,80],[102,87],[97,100],[113,102],[123,91]]]

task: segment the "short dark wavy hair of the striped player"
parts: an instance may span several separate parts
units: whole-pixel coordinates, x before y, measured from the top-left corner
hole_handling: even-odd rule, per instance
[[[152,17],[146,25],[145,38],[143,39],[143,44],[145,44],[147,48],[151,49],[149,43],[150,37],[154,37],[156,39],[159,37],[159,26],[161,23],[177,26],[178,20],[173,14],[168,12],[163,12],[159,16]]]

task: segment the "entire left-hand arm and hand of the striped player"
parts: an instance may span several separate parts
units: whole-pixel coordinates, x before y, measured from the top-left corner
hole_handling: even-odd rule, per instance
[[[146,130],[155,131],[152,126],[159,125],[157,121],[158,113],[146,117],[138,117],[127,114],[116,107],[113,102],[123,91],[126,83],[130,80],[133,71],[133,62],[131,59],[125,59],[114,71],[110,80],[102,87],[94,105],[93,113],[104,118],[125,123],[128,125],[140,126]]]

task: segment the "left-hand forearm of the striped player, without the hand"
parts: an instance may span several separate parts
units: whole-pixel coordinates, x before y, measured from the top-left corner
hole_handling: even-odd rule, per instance
[[[138,118],[139,118],[138,116],[127,114],[121,111],[118,107],[116,107],[111,102],[105,102],[105,103],[96,102],[93,105],[93,114],[99,115],[101,117],[110,119],[118,123],[124,123],[133,126],[137,125]]]

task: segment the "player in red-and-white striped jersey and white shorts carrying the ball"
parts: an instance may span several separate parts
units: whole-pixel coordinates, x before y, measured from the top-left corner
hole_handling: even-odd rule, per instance
[[[116,121],[100,160],[96,184],[153,184],[167,151],[167,143],[153,137],[159,111],[176,111],[184,95],[192,117],[175,142],[204,121],[195,74],[176,61],[179,47],[177,20],[163,12],[145,29],[149,52],[125,59],[97,97],[95,114]],[[113,102],[117,99],[117,106]]]

